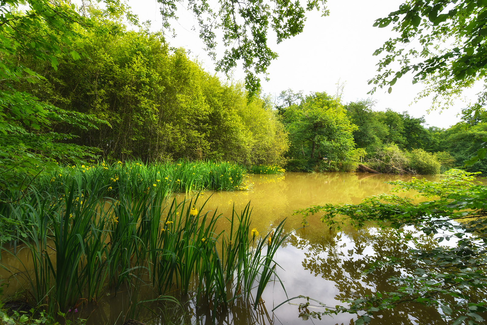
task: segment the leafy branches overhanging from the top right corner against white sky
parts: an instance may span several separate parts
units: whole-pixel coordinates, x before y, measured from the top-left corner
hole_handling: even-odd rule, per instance
[[[487,7],[484,1],[407,0],[385,18],[376,19],[374,26],[392,25],[398,33],[384,42],[374,55],[383,55],[378,72],[369,80],[374,88],[392,91],[397,78],[413,73],[412,82],[424,82],[427,87],[418,94],[432,94],[434,102],[459,95],[487,73]],[[411,46],[411,41],[415,43]],[[409,50],[404,46],[408,46]],[[396,66],[394,62],[398,62]],[[485,107],[485,92],[469,113]],[[448,106],[446,106],[448,107]],[[466,114],[463,118],[468,119]]]

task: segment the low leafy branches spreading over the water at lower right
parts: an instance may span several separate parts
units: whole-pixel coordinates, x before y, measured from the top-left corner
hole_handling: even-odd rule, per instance
[[[460,170],[449,171],[440,182],[413,179],[391,184],[397,185],[395,192],[416,190],[422,196],[437,199],[418,202],[395,194],[382,194],[356,205],[326,204],[297,211],[303,214],[304,223],[310,214],[322,212],[321,221],[338,230],[347,223],[360,228],[373,222],[379,235],[393,232],[389,238],[411,247],[411,255],[406,259],[384,256],[362,270],[400,271],[387,280],[395,285],[395,291],[371,292],[344,300],[347,307],[322,305],[325,307],[323,314],[358,313],[358,325],[371,322],[382,309],[417,303],[441,308],[442,317],[452,324],[464,324],[464,321],[484,324],[481,315],[487,310],[485,186]],[[415,228],[414,233],[410,231],[411,226]],[[424,239],[431,236],[436,245],[424,245]],[[450,242],[441,245],[444,240]],[[309,312],[308,304],[305,305],[300,309],[302,316],[321,314]]]

